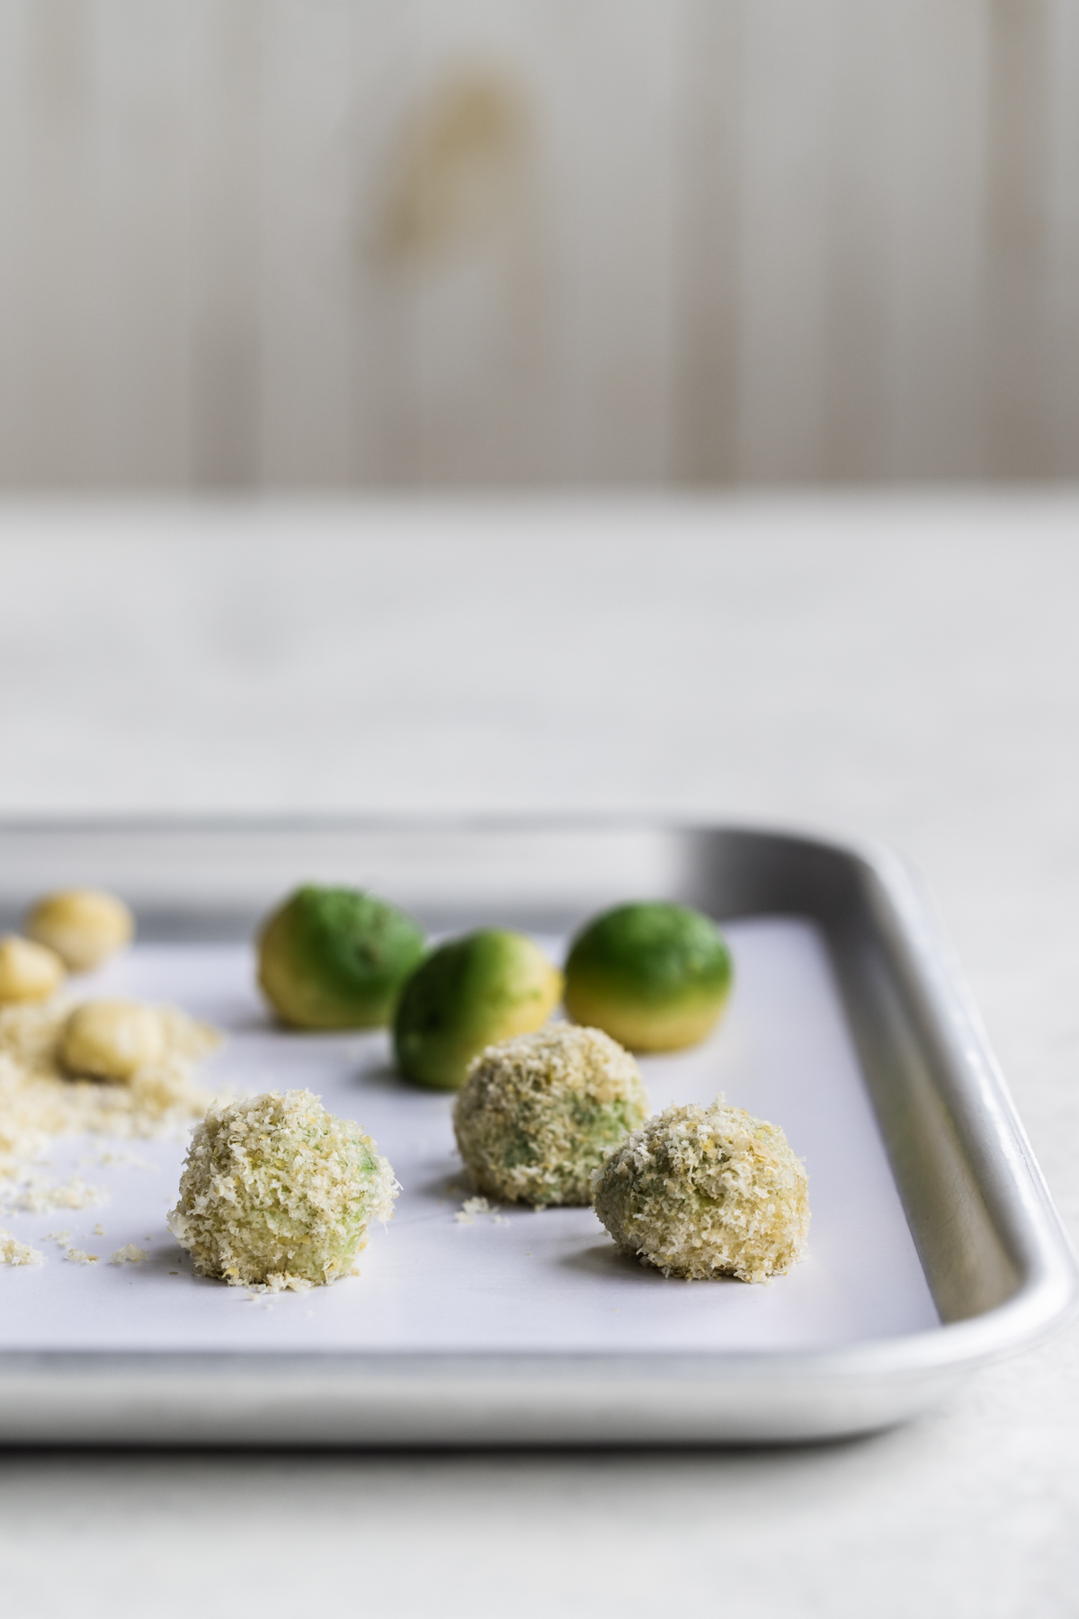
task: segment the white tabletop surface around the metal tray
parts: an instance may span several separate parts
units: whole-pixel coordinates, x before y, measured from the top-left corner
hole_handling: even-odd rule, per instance
[[[890,839],[1073,1232],[1079,500],[0,513],[0,810],[639,808]],[[3,1455],[18,1619],[1050,1619],[1076,1332],[773,1454]]]

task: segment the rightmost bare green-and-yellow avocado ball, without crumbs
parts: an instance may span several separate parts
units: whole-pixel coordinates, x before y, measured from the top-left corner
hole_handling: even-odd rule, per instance
[[[566,1012],[631,1051],[678,1051],[712,1031],[731,991],[715,923],[666,900],[616,905],[587,923],[566,958]]]

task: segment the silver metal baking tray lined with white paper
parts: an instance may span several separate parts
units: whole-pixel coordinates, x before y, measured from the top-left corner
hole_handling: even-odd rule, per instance
[[[686,1284],[618,1256],[589,1209],[456,1219],[451,1099],[400,1083],[382,1033],[285,1035],[259,1007],[254,924],[304,879],[372,887],[432,931],[514,924],[552,949],[629,897],[721,920],[731,1010],[699,1051],[645,1059],[645,1081],[655,1106],[723,1090],[786,1128],[810,1179],[804,1264],[770,1287]],[[1074,1260],[977,1013],[883,848],[610,821],[0,829],[5,926],[63,884],[113,887],[139,915],[136,950],[81,992],[214,1017],[230,1035],[214,1078],[322,1091],[404,1190],[358,1281],[272,1302],[194,1277],[168,1237],[176,1141],[86,1169],[108,1183],[104,1209],[5,1216],[83,1247],[100,1221],[97,1247],[150,1256],[0,1269],[3,1443],[836,1438],[938,1402],[1069,1307]],[[53,1169],[86,1146],[58,1141]]]

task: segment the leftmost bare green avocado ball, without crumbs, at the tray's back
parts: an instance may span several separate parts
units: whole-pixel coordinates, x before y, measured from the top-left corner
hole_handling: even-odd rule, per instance
[[[425,949],[422,928],[361,889],[298,889],[259,937],[259,986],[294,1028],[382,1028]]]

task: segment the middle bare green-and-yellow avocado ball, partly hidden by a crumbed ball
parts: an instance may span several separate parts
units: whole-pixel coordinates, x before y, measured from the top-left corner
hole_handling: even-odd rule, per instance
[[[526,933],[480,928],[450,939],[401,991],[393,1020],[401,1073],[459,1091],[485,1046],[539,1028],[560,999],[561,973]]]

